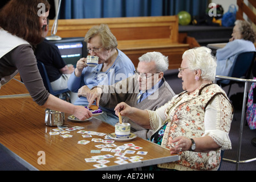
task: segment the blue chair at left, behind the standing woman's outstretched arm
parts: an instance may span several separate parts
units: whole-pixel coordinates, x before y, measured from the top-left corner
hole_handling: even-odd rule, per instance
[[[59,98],[61,98],[60,95],[62,95],[63,93],[65,93],[68,97],[70,97],[70,94],[68,93],[70,90],[68,90],[68,89],[63,89],[63,90],[58,90],[58,91],[52,90],[51,83],[50,83],[50,80],[48,78],[48,75],[47,75],[47,72],[46,72],[46,68],[44,67],[44,64],[40,61],[37,61],[37,66],[38,66],[40,75],[43,79],[43,84],[44,84],[45,88],[48,90],[49,93],[51,93],[52,95],[54,95],[56,97],[58,96]],[[69,100],[69,99],[65,99],[65,100]]]

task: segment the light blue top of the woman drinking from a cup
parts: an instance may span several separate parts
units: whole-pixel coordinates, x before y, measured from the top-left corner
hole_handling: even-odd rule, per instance
[[[78,92],[84,85],[90,89],[97,85],[113,85],[117,81],[132,76],[135,71],[132,61],[122,51],[119,49],[117,51],[118,56],[115,63],[106,72],[101,72],[103,64],[98,64],[96,67],[84,68],[80,77],[76,77],[75,73],[72,73],[68,80],[68,89]],[[74,105],[88,105],[87,98],[79,97]]]

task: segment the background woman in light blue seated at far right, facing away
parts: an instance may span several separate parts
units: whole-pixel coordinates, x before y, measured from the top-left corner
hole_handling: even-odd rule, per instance
[[[232,38],[216,53],[216,75],[230,76],[230,69],[239,53],[255,51],[255,31],[249,22],[236,20]],[[226,80],[228,81],[228,80]],[[222,81],[224,82],[224,81]]]

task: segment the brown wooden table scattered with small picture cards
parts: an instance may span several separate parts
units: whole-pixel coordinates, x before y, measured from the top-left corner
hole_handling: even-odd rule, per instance
[[[3,87],[0,93],[5,94]],[[91,150],[98,150],[95,147],[97,144],[103,143],[92,142],[92,138],[83,138],[82,134],[76,131],[71,131],[72,138],[50,135],[49,132],[57,127],[45,125],[45,108],[36,105],[32,98],[0,99],[0,105],[0,147],[8,151],[10,155],[30,170],[99,170],[93,166],[98,163],[88,163],[84,159],[96,155],[115,154],[103,151],[100,154],[91,153]],[[68,127],[83,126],[83,130],[100,133],[113,133],[115,131],[113,126],[95,118],[86,122],[71,122],[67,119],[68,115],[65,116],[65,125]],[[104,138],[96,135],[93,137]],[[78,144],[78,141],[83,139],[90,140],[90,143]],[[170,155],[168,149],[139,137],[125,142],[115,141],[114,144],[121,146],[124,143],[133,143],[136,146],[143,147],[139,151],[148,151],[148,154],[140,155],[143,157],[141,162],[129,162],[121,165],[115,163],[117,160],[115,156],[115,158],[107,159],[110,161],[105,164],[108,167],[100,169],[131,169],[178,160],[178,155]],[[43,159],[45,159],[46,164],[40,164],[40,159],[43,157],[42,152],[45,154]],[[136,153],[133,155],[137,155]],[[128,157],[133,155],[125,154]]]

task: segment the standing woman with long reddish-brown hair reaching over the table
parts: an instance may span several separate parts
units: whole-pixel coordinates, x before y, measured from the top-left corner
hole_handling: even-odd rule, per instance
[[[38,105],[90,118],[88,109],[52,96],[43,85],[32,46],[43,40],[49,10],[47,0],[11,0],[0,10],[0,88],[19,72]]]

